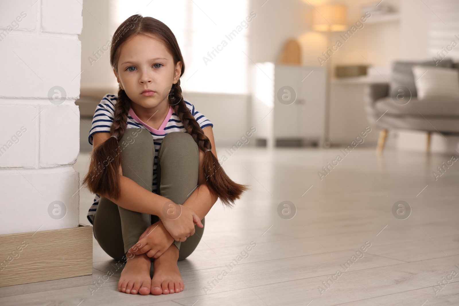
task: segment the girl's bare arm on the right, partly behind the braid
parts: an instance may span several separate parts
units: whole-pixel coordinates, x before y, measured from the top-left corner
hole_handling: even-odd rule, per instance
[[[217,157],[217,150],[215,149],[215,141],[213,139],[213,131],[211,126],[207,126],[202,129],[204,134],[210,140],[212,144],[211,152],[215,157]],[[202,171],[202,161],[204,159],[204,152],[200,149],[199,150],[199,175],[198,175],[198,187],[193,191],[193,193],[185,200],[183,203],[184,206],[190,207],[192,210],[196,212],[199,219],[202,220],[207,213],[212,208],[213,204],[218,200],[217,196],[213,196],[210,190],[207,188],[205,181],[206,178]],[[217,157],[218,159],[218,157]],[[218,167],[220,165],[216,165],[215,169],[218,171]]]

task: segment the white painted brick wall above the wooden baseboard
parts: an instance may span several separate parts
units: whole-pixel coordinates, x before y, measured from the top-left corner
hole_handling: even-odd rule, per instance
[[[0,0],[0,234],[78,226],[82,2]]]

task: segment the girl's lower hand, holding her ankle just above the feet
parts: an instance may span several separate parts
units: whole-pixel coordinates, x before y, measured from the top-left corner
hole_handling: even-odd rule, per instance
[[[146,253],[150,258],[158,258],[174,242],[162,221],[153,223],[140,235],[139,241],[129,249],[130,254],[140,255]]]

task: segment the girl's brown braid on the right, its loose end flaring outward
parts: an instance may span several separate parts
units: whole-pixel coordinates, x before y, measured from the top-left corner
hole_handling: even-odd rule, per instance
[[[213,195],[220,198],[224,205],[232,207],[234,201],[239,199],[241,194],[249,189],[250,185],[235,183],[220,167],[217,157],[209,150],[212,149],[209,138],[204,134],[199,123],[186,106],[185,100],[183,100],[180,79],[174,85],[173,93],[168,97],[171,101],[170,105],[174,106],[174,111],[183,123],[186,132],[193,137],[198,148],[204,151],[203,172],[206,177],[205,184]],[[215,164],[218,166],[215,166]]]

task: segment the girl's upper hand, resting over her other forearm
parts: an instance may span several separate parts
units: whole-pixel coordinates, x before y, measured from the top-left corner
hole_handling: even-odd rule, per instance
[[[175,241],[185,241],[195,234],[195,223],[202,228],[201,220],[190,207],[168,201],[162,211],[162,224]]]

